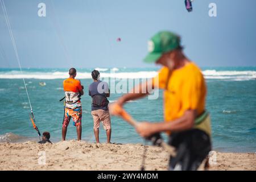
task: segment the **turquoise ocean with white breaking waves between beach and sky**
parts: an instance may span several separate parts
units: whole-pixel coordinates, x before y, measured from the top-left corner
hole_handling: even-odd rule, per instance
[[[97,68],[102,80],[115,79],[114,86],[124,78],[150,78],[156,75],[156,68]],[[90,115],[91,98],[88,86],[92,82],[92,69],[77,69],[77,78],[85,87],[82,96],[82,139],[94,142],[93,120]],[[202,68],[207,80],[207,109],[212,118],[213,149],[231,152],[256,152],[256,67]],[[24,142],[38,140],[29,114],[25,78],[36,125],[41,133],[49,131],[51,140],[61,140],[64,96],[62,82],[68,77],[68,69],[19,69],[0,68],[0,142]],[[39,82],[45,82],[41,86]],[[110,85],[113,88],[113,85]],[[129,88],[128,88],[129,89]],[[112,93],[114,102],[122,93]],[[125,109],[138,121],[162,121],[162,90],[156,100],[129,102]],[[163,134],[164,138],[167,137]],[[67,139],[76,139],[76,128],[68,126]],[[100,129],[100,142],[105,142],[105,131]],[[112,142],[143,143],[133,127],[122,119],[112,117]]]

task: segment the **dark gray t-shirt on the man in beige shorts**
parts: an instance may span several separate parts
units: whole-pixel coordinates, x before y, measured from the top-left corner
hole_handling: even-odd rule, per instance
[[[108,93],[109,93],[109,85],[105,81],[100,81],[100,80],[94,81],[89,86],[89,96],[91,97],[93,97],[94,95],[101,95],[106,97]],[[97,109],[108,110],[108,105],[95,107],[92,104],[92,110],[97,110]]]

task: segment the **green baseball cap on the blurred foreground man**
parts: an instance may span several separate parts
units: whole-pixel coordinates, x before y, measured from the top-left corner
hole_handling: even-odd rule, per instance
[[[163,53],[172,51],[180,46],[180,37],[169,31],[160,31],[148,41],[146,63],[155,63]]]

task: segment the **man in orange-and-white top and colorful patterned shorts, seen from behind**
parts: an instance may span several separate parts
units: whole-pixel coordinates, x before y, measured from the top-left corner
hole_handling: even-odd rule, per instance
[[[81,140],[82,134],[82,104],[81,96],[84,94],[84,86],[79,80],[75,79],[76,69],[69,69],[69,78],[63,81],[63,88],[65,92],[65,107],[64,118],[62,125],[62,140],[65,140],[67,134],[67,127],[70,119],[73,119],[73,126],[77,129],[77,140]]]

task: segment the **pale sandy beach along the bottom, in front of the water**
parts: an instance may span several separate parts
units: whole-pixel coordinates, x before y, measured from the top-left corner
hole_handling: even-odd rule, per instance
[[[75,140],[54,144],[0,143],[0,170],[139,170],[143,150],[142,144]],[[215,159],[209,170],[256,170],[254,153],[216,152]],[[168,153],[163,148],[147,146],[145,167],[167,170]]]

